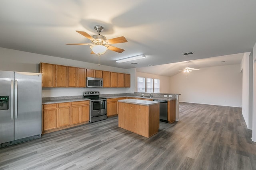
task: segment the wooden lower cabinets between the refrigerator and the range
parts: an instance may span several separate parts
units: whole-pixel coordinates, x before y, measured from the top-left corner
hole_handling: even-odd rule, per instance
[[[89,122],[90,102],[42,105],[42,133],[58,131]]]

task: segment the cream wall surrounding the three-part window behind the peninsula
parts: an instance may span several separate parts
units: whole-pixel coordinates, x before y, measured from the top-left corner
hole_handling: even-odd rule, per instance
[[[170,77],[159,76],[156,74],[148,74],[148,73],[144,73],[144,72],[136,72],[135,92],[137,92],[137,78],[138,77],[159,79],[160,80],[160,93],[172,93],[170,91]]]

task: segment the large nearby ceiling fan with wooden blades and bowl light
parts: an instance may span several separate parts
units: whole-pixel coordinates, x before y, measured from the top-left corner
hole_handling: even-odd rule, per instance
[[[100,32],[103,31],[104,27],[100,25],[96,25],[94,29],[98,32],[97,35],[89,35],[84,31],[76,31],[83,35],[84,37],[90,39],[92,43],[75,43],[75,44],[66,44],[66,45],[91,45],[90,49],[92,50],[91,54],[97,54],[99,57],[99,64],[100,65],[100,55],[104,54],[108,49],[111,51],[115,51],[118,53],[122,53],[124,49],[120,49],[118,47],[113,47],[110,44],[116,43],[126,43],[127,39],[125,37],[116,37],[112,39],[106,39],[105,36],[100,35]]]

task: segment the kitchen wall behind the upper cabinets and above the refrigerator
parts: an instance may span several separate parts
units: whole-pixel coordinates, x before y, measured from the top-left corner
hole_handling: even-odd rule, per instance
[[[58,96],[81,96],[84,91],[100,91],[100,94],[116,94],[134,92],[135,69],[123,69],[110,66],[104,66],[82,61],[63,59],[48,55],[28,53],[24,51],[6,49],[0,47],[0,70],[21,71],[21,72],[39,72],[39,63],[60,64],[66,66],[75,66],[81,68],[91,68],[97,70],[106,70],[112,72],[122,72],[131,74],[131,88],[42,88],[44,97]]]

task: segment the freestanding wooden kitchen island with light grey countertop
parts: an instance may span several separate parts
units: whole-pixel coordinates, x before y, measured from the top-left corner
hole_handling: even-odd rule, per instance
[[[148,100],[118,100],[118,127],[151,137],[159,129],[159,104]]]

